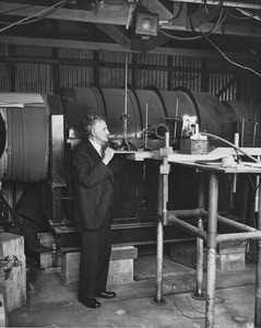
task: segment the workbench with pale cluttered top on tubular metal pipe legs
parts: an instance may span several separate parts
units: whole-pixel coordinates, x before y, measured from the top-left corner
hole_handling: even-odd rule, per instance
[[[244,149],[242,149],[244,150]],[[247,154],[260,159],[261,149],[245,149]],[[216,248],[220,243],[225,242],[242,242],[257,241],[257,271],[256,271],[256,300],[254,300],[254,327],[261,327],[261,188],[257,185],[258,192],[258,225],[257,229],[246,224],[229,220],[218,214],[218,179],[224,174],[251,174],[257,178],[261,175],[261,164],[256,162],[234,162],[229,164],[229,156],[236,155],[238,152],[233,148],[221,148],[206,155],[187,155],[174,152],[169,147],[153,152],[133,152],[129,155],[130,160],[157,160],[162,161],[158,172],[158,206],[157,206],[157,269],[156,269],[156,293],[152,301],[155,305],[165,305],[163,297],[163,245],[165,225],[176,224],[179,227],[190,232],[197,236],[197,277],[195,277],[195,297],[205,300],[205,327],[214,327],[215,314],[215,272],[216,272]],[[240,154],[242,155],[242,154]],[[227,164],[226,164],[227,163]],[[171,164],[171,165],[170,165]],[[168,202],[168,175],[170,169],[175,169],[175,165],[193,167],[199,174],[198,185],[198,208],[191,210],[167,210]],[[203,176],[209,178],[209,209],[204,209],[204,188]],[[197,216],[198,226],[194,226],[183,218]],[[207,220],[207,231],[204,231],[202,219]],[[217,223],[229,225],[239,231],[235,233],[218,234]],[[206,243],[206,291],[203,293],[203,242]]]

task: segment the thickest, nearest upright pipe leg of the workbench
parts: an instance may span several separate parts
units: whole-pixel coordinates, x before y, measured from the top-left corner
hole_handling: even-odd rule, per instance
[[[218,179],[210,174],[209,225],[207,225],[207,282],[205,303],[205,327],[214,327],[215,315],[215,269],[216,269],[216,229],[217,229]]]

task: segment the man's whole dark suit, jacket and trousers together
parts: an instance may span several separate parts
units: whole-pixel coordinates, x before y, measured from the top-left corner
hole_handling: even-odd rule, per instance
[[[74,220],[82,236],[80,296],[94,298],[106,291],[111,250],[110,221],[114,198],[114,159],[105,165],[88,140],[73,151]]]

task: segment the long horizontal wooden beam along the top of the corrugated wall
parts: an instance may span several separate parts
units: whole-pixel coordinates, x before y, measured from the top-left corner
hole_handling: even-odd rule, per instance
[[[5,36],[0,35],[0,44],[8,45],[27,45],[27,46],[38,46],[38,47],[56,47],[56,48],[74,48],[74,49],[88,49],[88,50],[104,50],[104,51],[118,51],[118,52],[132,52],[139,54],[141,51],[129,50],[122,48],[117,44],[106,44],[106,43],[94,43],[94,42],[80,42],[71,39],[56,39],[56,38],[33,38],[23,36]],[[185,57],[201,57],[201,58],[221,58],[221,55],[216,51],[206,50],[195,50],[186,48],[155,48],[149,54],[157,55],[169,55],[169,56],[185,56]],[[230,59],[238,60],[249,60],[249,56],[236,52],[226,52]],[[252,58],[251,58],[251,61]],[[257,58],[257,63],[259,63],[259,58]]]

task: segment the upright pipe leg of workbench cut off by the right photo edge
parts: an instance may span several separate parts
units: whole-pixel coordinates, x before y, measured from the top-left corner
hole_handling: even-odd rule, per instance
[[[260,177],[259,177],[260,180]],[[258,230],[261,230],[261,188],[259,191],[259,207],[258,207]],[[256,298],[254,298],[254,327],[261,327],[261,241],[257,242],[257,265],[256,265]]]

